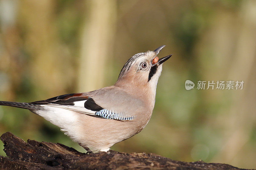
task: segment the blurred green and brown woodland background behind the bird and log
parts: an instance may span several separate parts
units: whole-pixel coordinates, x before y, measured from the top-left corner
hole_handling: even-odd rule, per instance
[[[256,1],[0,0],[0,100],[32,102],[116,82],[132,55],[166,45],[145,129],[111,149],[256,168]],[[186,80],[244,81],[185,90]],[[0,134],[84,152],[28,110],[0,107]],[[0,154],[3,152],[0,146]]]

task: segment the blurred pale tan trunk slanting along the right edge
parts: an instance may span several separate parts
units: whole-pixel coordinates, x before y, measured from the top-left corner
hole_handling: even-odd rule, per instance
[[[228,80],[244,81],[242,91],[230,106],[230,113],[227,120],[227,131],[225,132],[225,143],[219,154],[213,161],[236,163],[241,158],[239,155],[243,152],[244,146],[251,137],[251,129],[255,127],[256,115],[252,115],[256,110],[255,105],[255,62],[256,62],[256,1],[243,1],[239,13],[239,19],[242,27],[237,31],[238,39],[234,50],[233,58],[228,61]],[[225,23],[226,24],[226,23]],[[232,27],[232,26],[230,26]],[[227,30],[229,31],[229,30]],[[230,39],[231,40],[231,39]],[[243,71],[241,71],[243,68]],[[235,79],[236,78],[236,79]],[[241,102],[244,104],[241,105]],[[254,120],[248,122],[248,120]],[[254,134],[255,135],[255,134]],[[255,155],[252,161],[255,161]],[[249,156],[250,157],[250,156]],[[248,158],[245,158],[248,159]],[[256,164],[255,164],[256,165]]]

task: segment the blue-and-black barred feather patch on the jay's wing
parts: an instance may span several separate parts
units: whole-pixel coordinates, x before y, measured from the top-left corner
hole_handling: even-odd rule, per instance
[[[125,116],[123,116],[122,113],[112,113],[111,110],[107,110],[107,109],[102,109],[100,111],[97,111],[95,113],[95,115],[101,116],[105,119],[116,119],[116,120],[120,120],[120,121],[129,121],[129,120],[133,119],[133,116],[125,117]]]

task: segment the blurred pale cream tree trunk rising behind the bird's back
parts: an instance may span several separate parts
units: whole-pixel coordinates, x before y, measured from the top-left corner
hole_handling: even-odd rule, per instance
[[[81,37],[78,90],[92,91],[104,86],[106,69],[112,51],[116,24],[116,1],[88,1],[89,16],[85,18]],[[108,63],[110,64],[110,63]]]

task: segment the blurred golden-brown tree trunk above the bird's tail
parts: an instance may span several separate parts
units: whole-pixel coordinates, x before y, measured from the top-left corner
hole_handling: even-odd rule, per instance
[[[68,79],[61,70],[63,55],[58,52],[60,47],[56,37],[54,21],[54,1],[20,1],[21,28],[25,32],[25,49],[30,57],[30,71],[35,92],[41,100],[64,92],[65,81]]]

